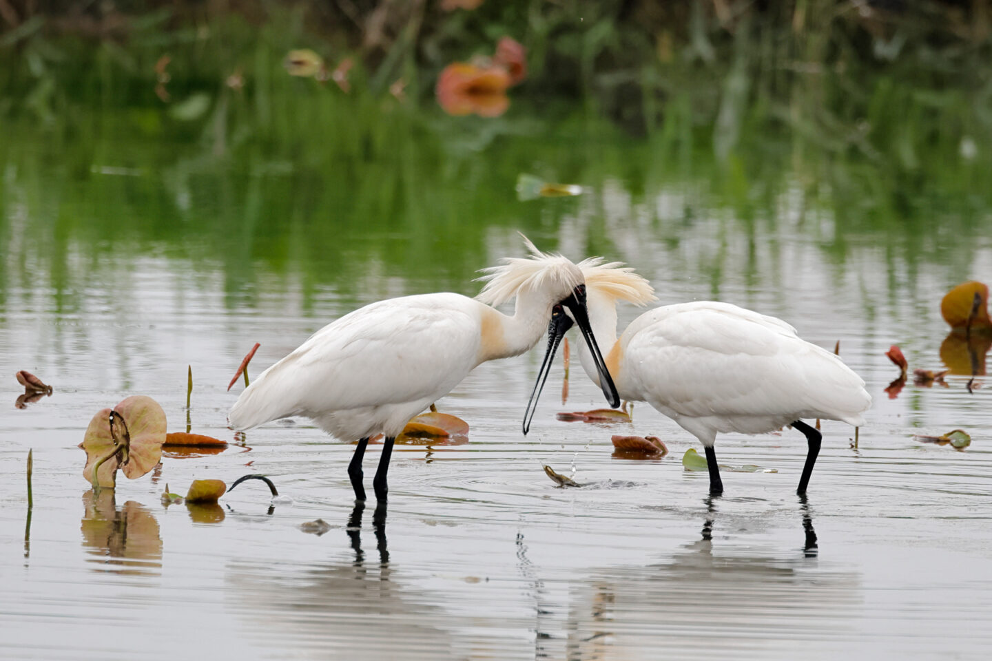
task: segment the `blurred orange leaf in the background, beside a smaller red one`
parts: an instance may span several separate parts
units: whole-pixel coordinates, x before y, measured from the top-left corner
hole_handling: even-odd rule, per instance
[[[434,92],[448,115],[499,117],[510,107],[510,74],[502,66],[452,62],[437,76]]]

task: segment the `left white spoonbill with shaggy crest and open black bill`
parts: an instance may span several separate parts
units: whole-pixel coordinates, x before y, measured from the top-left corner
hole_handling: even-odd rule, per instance
[[[369,437],[382,433],[386,441],[372,484],[376,497],[385,500],[393,442],[407,421],[480,363],[531,349],[553,307],[558,316],[564,316],[561,309],[572,314],[589,343],[590,365],[599,366],[593,368],[602,377],[597,383],[611,405],[619,405],[589,327],[581,268],[524,241],[530,257],[483,270],[485,286],[474,299],[449,292],[390,298],[327,324],[245,388],[228,414],[231,426],[249,429],[303,415],[341,440],[357,439],[348,476],[361,500],[365,447]],[[514,297],[513,316],[490,307]],[[553,340],[524,414],[525,434],[551,370]]]

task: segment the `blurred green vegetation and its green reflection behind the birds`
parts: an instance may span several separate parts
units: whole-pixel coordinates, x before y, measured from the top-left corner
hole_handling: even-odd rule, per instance
[[[37,273],[81,291],[133,247],[219,266],[232,297],[260,272],[360,297],[370,263],[473,292],[493,227],[588,216],[608,252],[616,182],[648,209],[687,192],[678,223],[648,218],[673,242],[724,210],[760,240],[798,196],[838,264],[956,251],[966,276],[992,229],[982,2],[0,4],[0,303]],[[445,116],[437,72],[503,35],[529,54],[509,112]],[[353,58],[350,91],[290,76],[298,48]],[[522,203],[522,171],[591,193]]]

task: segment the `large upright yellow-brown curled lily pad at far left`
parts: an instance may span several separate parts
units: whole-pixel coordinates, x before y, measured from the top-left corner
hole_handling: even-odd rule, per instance
[[[111,417],[116,421],[111,428]],[[94,487],[115,484],[117,469],[129,480],[136,480],[159,463],[166,440],[166,412],[155,399],[145,395],[127,397],[112,409],[93,416],[79,447],[86,451],[84,477]],[[93,480],[94,466],[98,481]]]

